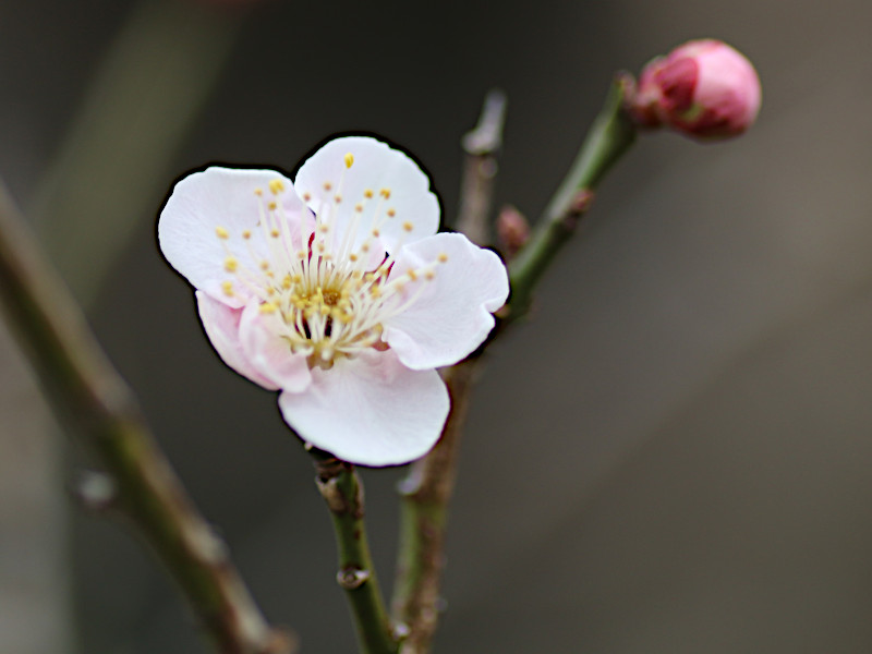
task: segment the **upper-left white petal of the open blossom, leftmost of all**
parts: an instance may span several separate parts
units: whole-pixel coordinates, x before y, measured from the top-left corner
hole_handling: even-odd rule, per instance
[[[270,191],[270,182],[278,194]],[[258,189],[261,196],[255,193]],[[261,220],[270,202],[284,216],[288,232],[299,232],[301,217],[308,211],[281,173],[217,167],[192,173],[175,184],[160,213],[160,250],[195,288],[228,306],[242,307],[252,291],[241,277],[259,275],[262,262],[271,258]],[[244,233],[251,238],[244,239]],[[295,239],[299,243],[300,237]],[[228,266],[229,256],[235,265]]]

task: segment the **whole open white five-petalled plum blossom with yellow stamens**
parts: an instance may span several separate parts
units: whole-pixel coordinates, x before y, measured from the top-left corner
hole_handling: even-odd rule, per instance
[[[215,350],[280,391],[301,438],[391,465],[436,443],[449,409],[436,368],[487,338],[509,290],[496,254],[438,225],[417,165],[351,136],[322,147],[294,182],[217,167],[184,178],[158,239],[196,289]]]

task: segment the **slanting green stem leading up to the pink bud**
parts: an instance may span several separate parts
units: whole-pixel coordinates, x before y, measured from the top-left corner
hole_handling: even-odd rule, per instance
[[[627,76],[618,75],[564,182],[545,208],[530,240],[509,264],[512,294],[507,322],[522,317],[530,310],[536,283],[574,233],[579,219],[593,201],[597,184],[633,144],[637,129],[626,111],[628,92]]]

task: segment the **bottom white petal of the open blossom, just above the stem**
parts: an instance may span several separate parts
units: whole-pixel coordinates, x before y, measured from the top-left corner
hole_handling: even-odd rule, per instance
[[[301,438],[362,465],[398,465],[423,457],[448,416],[448,391],[435,371],[411,371],[372,350],[312,371],[303,392],[282,392],[279,408]]]

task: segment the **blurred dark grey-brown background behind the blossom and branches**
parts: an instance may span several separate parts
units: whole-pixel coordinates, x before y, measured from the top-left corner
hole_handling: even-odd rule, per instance
[[[157,251],[172,181],[209,161],[292,170],[329,134],[365,130],[420,158],[450,218],[460,136],[499,86],[497,199],[535,217],[614,71],[711,36],[756,64],[759,123],[719,145],[641,138],[533,319],[492,349],[463,444],[437,652],[872,651],[868,2],[206,4],[0,4],[0,175],[53,239],[270,620],[293,627],[303,652],[354,651],[308,457],[274,395],[213,353],[191,289]],[[164,155],[110,140],[93,168],[61,168],[106,199],[85,216],[97,228],[73,229],[46,209],[51,175],[82,107],[104,106],[94,80],[118,35],[148,7],[192,27],[135,51],[196,53],[197,29],[211,29],[203,48],[220,65]],[[191,58],[173,55],[148,84],[121,77],[158,104],[183,97]],[[159,142],[154,112],[135,111],[148,102],[134,94],[122,132]],[[179,116],[162,110],[158,128]],[[81,281],[104,259],[101,283]],[[69,499],[93,463],[0,341],[0,650],[207,652],[141,543]],[[387,588],[400,475],[364,472]]]

